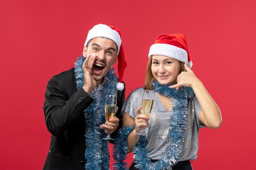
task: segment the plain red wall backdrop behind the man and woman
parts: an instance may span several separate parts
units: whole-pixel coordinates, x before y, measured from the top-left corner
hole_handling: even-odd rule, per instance
[[[255,8],[254,0],[0,0],[0,170],[42,169],[50,144],[42,110],[47,81],[74,65],[98,23],[122,33],[126,97],[143,86],[154,39],[185,33],[192,70],[223,118],[221,128],[200,130],[193,168],[252,169]]]

